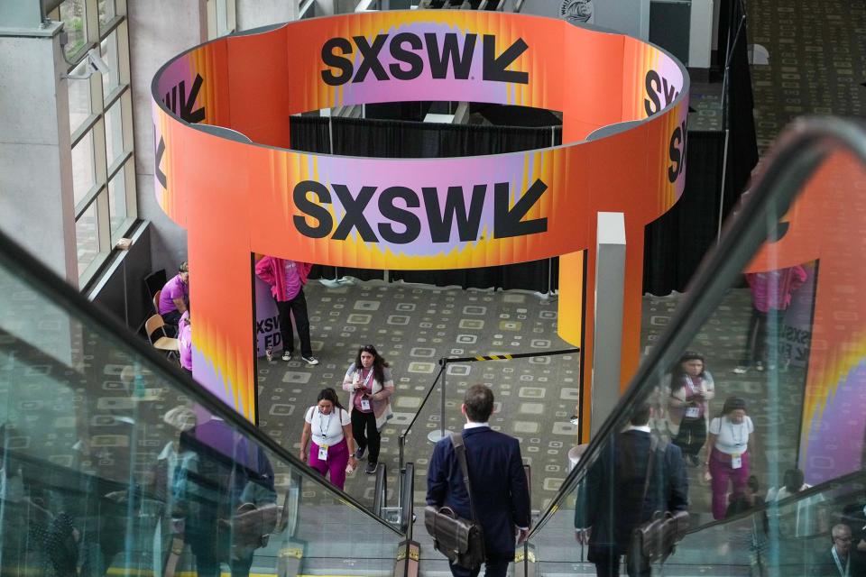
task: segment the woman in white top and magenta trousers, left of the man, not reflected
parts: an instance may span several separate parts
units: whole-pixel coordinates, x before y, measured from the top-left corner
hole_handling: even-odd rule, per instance
[[[331,473],[331,484],[343,490],[346,464],[355,469],[355,440],[352,420],[340,405],[336,390],[327,388],[318,393],[317,404],[304,415],[304,432],[300,435],[300,460],[308,462],[324,477]],[[309,443],[310,437],[312,442]],[[309,443],[309,453],[308,453]]]

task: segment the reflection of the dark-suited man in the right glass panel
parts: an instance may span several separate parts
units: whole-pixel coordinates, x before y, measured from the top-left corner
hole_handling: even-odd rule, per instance
[[[650,404],[640,406],[630,426],[613,437],[599,459],[587,472],[585,497],[575,508],[577,539],[587,536],[589,554],[599,577],[618,577],[620,556],[627,553],[631,532],[649,521],[655,511],[685,511],[688,507],[688,480],[683,454],[675,444],[653,452],[652,478],[647,485],[652,441]],[[646,498],[644,498],[646,487]],[[631,577],[650,575],[642,560],[626,559]]]

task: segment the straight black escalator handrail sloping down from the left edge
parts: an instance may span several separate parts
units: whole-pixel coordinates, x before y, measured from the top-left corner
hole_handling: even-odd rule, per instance
[[[262,431],[253,426],[244,417],[226,407],[223,401],[209,390],[198,385],[185,371],[181,371],[179,368],[173,367],[166,362],[152,346],[144,343],[141,339],[135,338],[129,332],[129,329],[121,325],[115,318],[98,311],[97,307],[89,302],[78,290],[74,289],[66,280],[61,279],[52,270],[49,270],[48,267],[34,258],[29,252],[26,252],[4,231],[0,231],[0,265],[5,266],[7,270],[14,270],[17,276],[23,279],[24,284],[41,293],[42,296],[58,307],[65,309],[70,317],[75,318],[83,325],[95,329],[97,333],[102,334],[104,337],[110,337],[111,342],[116,343],[116,346],[119,348],[123,349],[125,347],[126,353],[143,361],[143,368],[151,371],[155,379],[172,383],[212,415],[222,418],[230,426],[236,427],[240,434],[252,438],[255,443],[266,448],[284,463],[289,463],[301,474],[308,477],[311,482],[315,483],[318,489],[329,492],[337,501],[342,500],[348,503],[362,514],[371,517],[382,527],[387,527],[399,536],[403,535],[395,527],[382,520],[381,517],[373,515],[358,499],[355,499],[355,497],[344,491],[336,489],[334,485],[322,479],[321,476],[312,474],[312,469],[306,463],[300,461],[297,456],[287,451],[269,435],[263,434]]]

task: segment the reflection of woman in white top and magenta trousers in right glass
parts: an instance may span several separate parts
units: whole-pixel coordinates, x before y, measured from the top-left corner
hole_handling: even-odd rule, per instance
[[[713,481],[713,517],[716,519],[723,519],[728,508],[728,481],[733,485],[733,495],[743,493],[749,479],[749,440],[754,431],[755,426],[746,415],[746,401],[739,397],[727,398],[722,416],[710,421],[705,476]]]

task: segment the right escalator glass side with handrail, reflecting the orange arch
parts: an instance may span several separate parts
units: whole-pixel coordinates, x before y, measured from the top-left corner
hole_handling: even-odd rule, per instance
[[[666,574],[750,574],[753,552],[735,541],[752,519],[720,521],[753,495],[784,496],[861,472],[864,166],[859,124],[800,121],[781,139],[667,332],[534,527],[540,573],[592,573],[599,558],[624,553],[623,527],[681,508],[696,532]],[[650,410],[652,435],[626,432],[644,424],[641,408]],[[664,457],[647,484],[646,457],[633,457],[647,454],[641,444],[652,438]],[[828,501],[820,516],[801,510],[793,529],[780,515],[760,544],[769,557],[751,574],[808,574],[806,555],[829,555],[843,510]],[[810,541],[800,551],[791,538]]]

